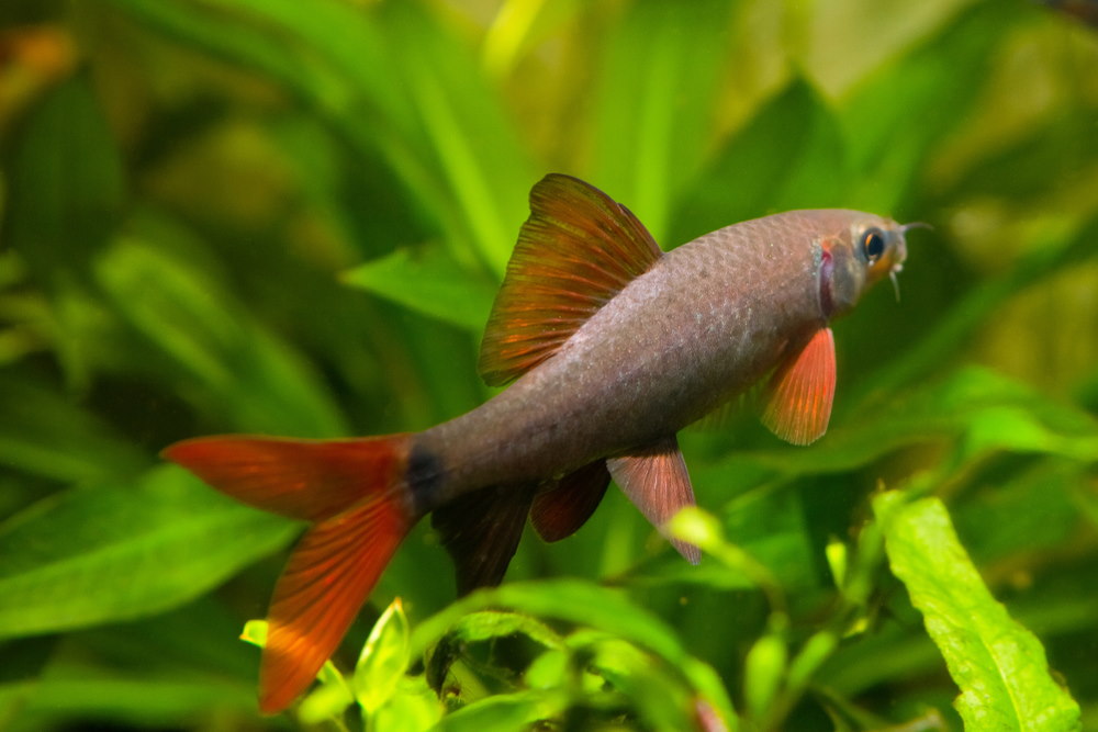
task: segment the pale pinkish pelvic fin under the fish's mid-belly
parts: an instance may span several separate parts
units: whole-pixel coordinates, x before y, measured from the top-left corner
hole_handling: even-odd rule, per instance
[[[686,461],[674,436],[631,454],[612,458],[606,466],[629,500],[664,536],[668,520],[680,508],[694,505]],[[670,537],[668,540],[691,564],[701,561],[701,552],[694,544]]]

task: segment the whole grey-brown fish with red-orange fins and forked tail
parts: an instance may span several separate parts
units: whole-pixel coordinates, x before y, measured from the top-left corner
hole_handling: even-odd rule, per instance
[[[768,428],[818,439],[836,385],[829,324],[895,278],[905,232],[858,211],[791,211],[664,252],[626,206],[550,173],[530,191],[481,344],[480,374],[506,386],[491,399],[419,432],[166,448],[217,491],[312,525],[276,583],[260,710],[307,688],[428,515],[463,595],[502,582],[527,520],[549,542],[573,534],[612,478],[666,534],[694,504],[679,431],[755,384]]]

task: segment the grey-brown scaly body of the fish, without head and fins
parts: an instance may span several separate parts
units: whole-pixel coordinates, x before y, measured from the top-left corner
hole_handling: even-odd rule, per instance
[[[445,465],[438,499],[649,444],[754,385],[833,315],[820,302],[817,239],[821,227],[850,222],[884,224],[858,212],[789,212],[661,257],[551,359],[416,437]]]

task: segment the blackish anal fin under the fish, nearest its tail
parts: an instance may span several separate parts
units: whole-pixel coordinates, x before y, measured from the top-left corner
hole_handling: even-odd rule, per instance
[[[430,525],[450,553],[458,595],[503,581],[526,528],[534,485],[482,488],[437,508]]]

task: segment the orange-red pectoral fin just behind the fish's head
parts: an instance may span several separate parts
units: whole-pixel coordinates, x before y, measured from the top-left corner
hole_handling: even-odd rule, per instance
[[[762,424],[793,444],[815,442],[827,431],[834,397],[834,336],[821,328],[768,386]]]

